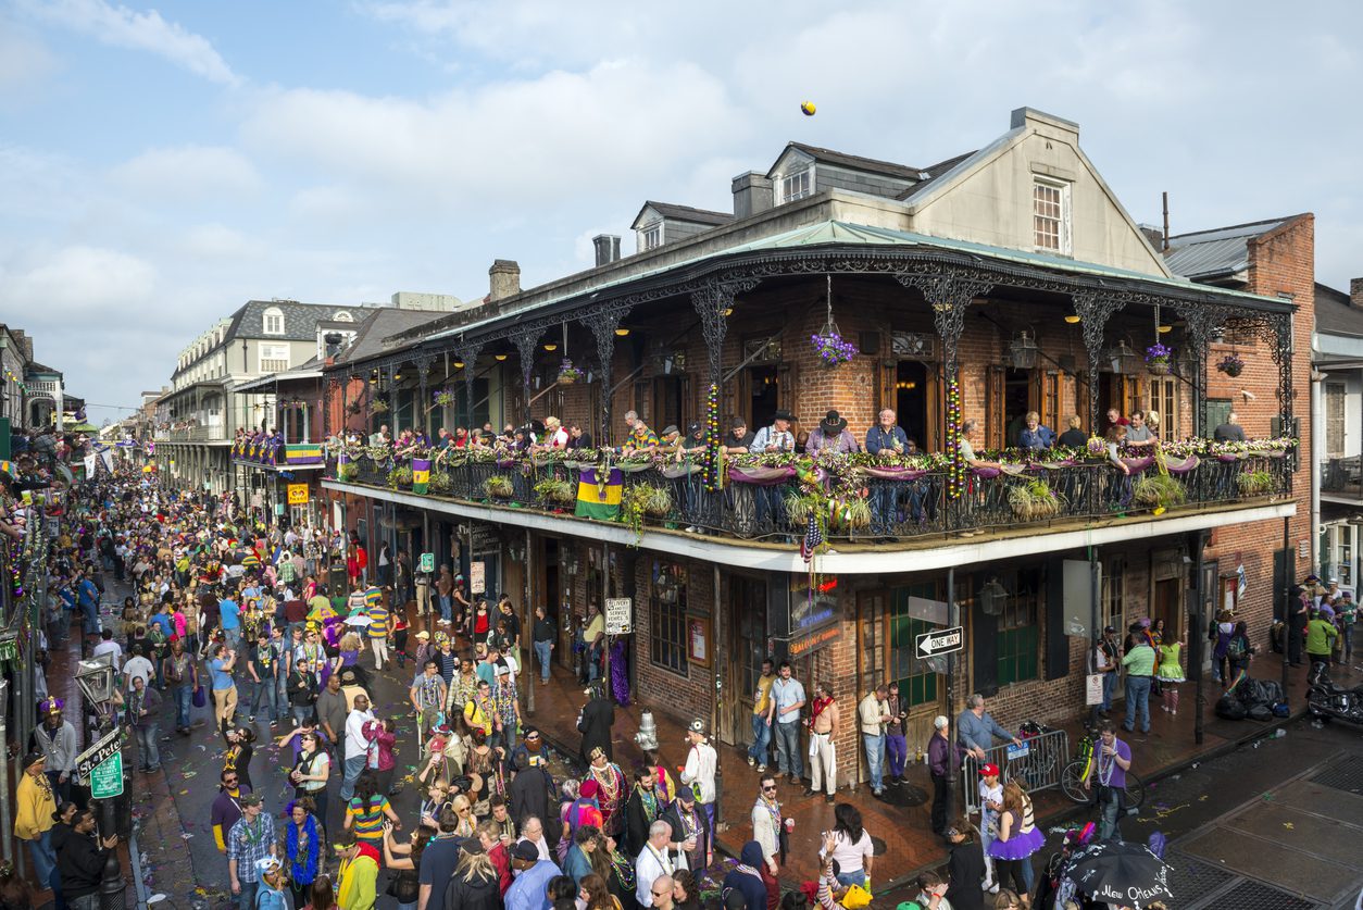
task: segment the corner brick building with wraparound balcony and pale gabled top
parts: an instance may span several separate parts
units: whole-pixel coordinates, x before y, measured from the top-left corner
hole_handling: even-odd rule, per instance
[[[765,427],[778,409],[812,431],[837,409],[866,439],[890,408],[936,457],[830,460],[815,480],[797,456],[717,465],[713,443],[680,460],[593,456],[601,476],[624,473],[627,501],[667,494],[638,527],[568,514],[542,482],[577,487],[582,465],[555,457],[455,454],[417,494],[401,464],[352,449],[343,479],[323,487],[343,498],[348,527],[433,553],[522,608],[547,604],[564,629],[560,660],[570,615],[630,598],[634,692],[707,718],[729,744],[751,735],[766,655],[830,682],[849,711],[900,681],[910,739],[925,744],[932,718],[972,690],[1009,723],[1081,709],[1090,640],[1108,622],[1153,615],[1201,641],[1205,608],[1229,591],[1262,639],[1284,523],[1293,550],[1307,533],[1304,463],[1291,443],[1187,441],[1210,437],[1239,396],[1251,439],[1300,431],[1308,443],[1293,415],[1310,387],[1311,218],[1240,239],[1242,277],[1190,280],[1078,132],[1024,108],[985,147],[925,168],[791,143],[733,180],[732,217],[649,202],[634,255],[602,236],[593,269],[525,291],[499,261],[483,306],[328,374],[337,386],[372,379],[428,432],[470,413],[553,415],[619,445],[628,409],[654,430],[720,431],[735,416]],[[834,367],[811,344],[831,327],[852,345]],[[1174,351],[1148,367],[1156,342]],[[1234,381],[1216,368],[1232,351],[1244,360]],[[564,381],[566,366],[581,377]],[[413,407],[439,389],[446,405]],[[1108,408],[1156,411],[1178,445],[1161,463],[1130,453],[1130,478],[1101,454],[1029,463],[1015,449],[1030,411],[1056,431],[1075,416],[1101,434]],[[979,424],[979,457],[1005,468],[960,460],[961,420]],[[799,547],[811,508],[831,544],[812,573]],[[915,640],[954,625],[965,649],[947,675]],[[840,783],[863,774],[853,734],[845,724]]]

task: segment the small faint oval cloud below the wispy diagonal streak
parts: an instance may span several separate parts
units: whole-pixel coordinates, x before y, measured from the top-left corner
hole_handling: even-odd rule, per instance
[[[150,149],[113,168],[116,183],[136,198],[169,201],[252,194],[260,175],[240,151],[218,146]]]

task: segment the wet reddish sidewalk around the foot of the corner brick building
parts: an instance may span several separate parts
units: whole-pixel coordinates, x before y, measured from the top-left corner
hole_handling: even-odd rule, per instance
[[[1278,655],[1261,658],[1253,667],[1258,678],[1281,678],[1281,664]],[[1363,667],[1334,667],[1334,681],[1338,684],[1356,685],[1363,681]],[[551,684],[541,686],[534,684],[536,709],[527,716],[527,723],[537,726],[545,738],[559,750],[570,757],[578,754],[581,735],[577,731],[578,711],[586,701],[571,673],[555,666]],[[1135,771],[1144,778],[1148,789],[1159,778],[1174,774],[1194,761],[1205,761],[1208,757],[1228,752],[1253,739],[1270,735],[1272,731],[1287,724],[1291,719],[1306,712],[1306,667],[1292,667],[1288,700],[1292,705],[1292,718],[1284,718],[1273,723],[1255,723],[1253,720],[1223,720],[1217,718],[1212,708],[1221,694],[1220,684],[1210,679],[1205,684],[1206,708],[1204,715],[1204,744],[1194,742],[1194,696],[1193,684],[1184,684],[1180,690],[1182,704],[1178,716],[1171,716],[1161,711],[1161,700],[1150,700],[1150,735],[1131,737],[1119,730],[1122,738],[1127,739],[1134,753]],[[639,715],[647,705],[638,703],[628,708],[616,705],[613,746],[615,761],[628,775],[635,764],[642,761],[643,753],[634,742],[634,734],[639,729]],[[662,763],[675,768],[684,760],[683,739],[686,727],[671,715],[656,711],[654,722],[658,730],[658,744],[661,745]],[[1071,749],[1082,735],[1081,716],[1075,716],[1069,723],[1052,724],[1063,726],[1070,734]],[[1123,715],[1114,712],[1114,722],[1120,727]],[[1015,726],[1020,719],[1005,719],[999,722],[1005,726]],[[909,744],[910,756],[915,746],[925,744]],[[744,750],[736,746],[716,744],[720,753],[720,831],[717,846],[728,855],[736,857],[743,845],[751,839],[752,825],[748,820],[752,802],[758,791],[758,774],[747,764]],[[840,761],[844,756],[838,757]],[[575,759],[574,759],[575,760]],[[946,862],[946,850],[939,838],[931,832],[928,814],[931,804],[931,780],[924,764],[913,764],[906,772],[908,783],[901,787],[887,787],[886,799],[875,799],[868,786],[844,787],[838,791],[840,802],[852,802],[861,810],[861,817],[867,831],[875,842],[875,891],[880,894],[909,876],[916,876],[923,869],[940,866]],[[1157,784],[1156,787],[1157,789]],[[803,881],[814,879],[816,875],[816,845],[818,832],[833,827],[833,805],[822,798],[804,797],[804,784],[795,786],[786,782],[780,783],[780,798],[782,809],[788,817],[795,819],[795,832],[791,838],[791,855],[782,869],[782,879]],[[1148,794],[1148,801],[1149,794]],[[1047,830],[1054,824],[1060,824],[1065,819],[1079,812],[1082,808],[1070,802],[1059,789],[1045,790],[1035,795],[1037,827]]]

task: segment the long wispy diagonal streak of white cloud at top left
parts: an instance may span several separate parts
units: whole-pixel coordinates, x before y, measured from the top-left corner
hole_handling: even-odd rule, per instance
[[[155,10],[138,12],[105,0],[23,0],[22,5],[41,19],[102,44],[154,53],[221,85],[241,83],[207,38],[166,22]]]

